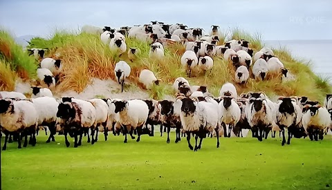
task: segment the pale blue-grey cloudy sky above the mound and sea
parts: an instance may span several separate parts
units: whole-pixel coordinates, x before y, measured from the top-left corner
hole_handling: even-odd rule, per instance
[[[0,0],[0,26],[22,35],[49,36],[55,28],[133,26],[163,21],[190,28],[239,27],[266,40],[332,39],[330,0]]]

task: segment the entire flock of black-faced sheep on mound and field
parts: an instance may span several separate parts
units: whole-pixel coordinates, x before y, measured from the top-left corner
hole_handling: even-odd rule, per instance
[[[167,25],[153,21],[143,26],[122,27],[120,30],[108,26],[98,28],[84,26],[82,32],[99,34],[102,43],[109,44],[109,48],[118,50],[120,54],[127,51],[126,37],[132,37],[151,44],[149,57],[163,59],[164,48],[172,43],[182,43],[186,51],[181,57],[181,65],[191,77],[192,69],[199,66],[205,73],[213,67],[214,57],[221,56],[228,60],[236,70],[235,82],[244,84],[250,77],[259,80],[266,79],[269,73],[286,77],[288,70],[282,62],[274,56],[273,50],[262,48],[255,55],[245,39],[232,39],[223,45],[219,44],[218,26],[212,26],[213,35],[203,35],[202,28],[190,28],[183,24]],[[33,48],[30,50],[35,57],[44,57],[44,50]],[[131,47],[128,50],[131,61],[136,59],[140,50]],[[36,133],[39,126],[47,126],[50,131],[47,142],[55,141],[57,132],[64,134],[66,146],[70,146],[67,135],[74,137],[74,147],[82,144],[83,135],[87,135],[87,142],[94,144],[98,141],[98,131],[104,132],[107,140],[108,131],[114,135],[127,134],[132,139],[140,141],[142,134],[154,135],[154,126],[160,125],[160,135],[163,127],[167,129],[167,143],[169,131],[176,129],[175,142],[187,136],[191,150],[201,149],[203,138],[216,137],[216,147],[219,147],[219,137],[242,137],[250,129],[252,137],[259,141],[268,137],[272,131],[280,131],[282,145],[286,143],[285,129],[288,129],[288,141],[291,137],[306,137],[311,140],[323,139],[324,133],[331,128],[332,95],[326,95],[324,106],[313,102],[307,97],[279,97],[272,102],[265,93],[249,92],[238,96],[235,86],[225,83],[221,86],[219,97],[213,97],[208,86],[190,86],[184,77],[178,77],[174,84],[176,99],[75,99],[74,97],[55,98],[50,90],[55,87],[62,71],[62,61],[44,58],[37,69],[39,86],[33,86],[33,95],[27,99],[17,92],[0,92],[0,126],[6,135],[3,150],[12,137],[21,148],[29,144],[35,146]],[[117,82],[122,86],[129,77],[131,67],[126,61],[118,61],[114,68]],[[146,88],[158,85],[151,70],[142,70],[140,82]],[[181,135],[182,133],[182,135]],[[91,138],[90,138],[91,135]],[[195,146],[190,144],[191,136],[195,137]],[[9,140],[8,140],[9,139]],[[198,141],[199,140],[199,141]]]

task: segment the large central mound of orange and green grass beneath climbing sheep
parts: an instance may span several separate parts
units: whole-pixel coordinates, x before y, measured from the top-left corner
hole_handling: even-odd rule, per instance
[[[227,39],[247,39],[256,51],[264,44],[260,35],[250,35],[238,28],[220,34],[220,44]],[[162,80],[160,86],[149,90],[151,97],[162,98],[163,95],[173,94],[171,88],[174,79],[186,77],[181,67],[181,55],[185,48],[181,44],[165,48],[163,59],[149,59],[149,44],[136,39],[126,39],[127,48],[140,48],[140,59],[129,61],[127,53],[118,56],[109,50],[108,45],[102,44],[98,35],[78,34],[76,32],[57,31],[50,39],[35,38],[31,40],[30,48],[48,48],[49,57],[57,57],[64,62],[59,91],[74,90],[81,92],[89,84],[91,77],[100,79],[114,79],[113,68],[117,61],[124,60],[131,66],[131,85],[141,87],[138,82],[140,70],[148,68]],[[310,99],[322,102],[326,93],[330,92],[328,79],[322,79],[311,71],[310,64],[294,59],[286,48],[274,49],[275,55],[284,63],[285,67],[295,75],[295,80],[281,82],[273,78],[264,82],[250,79],[246,86],[237,86],[239,93],[248,91],[264,91],[267,95],[304,95]],[[214,57],[214,67],[206,75],[194,72],[189,78],[192,85],[206,85],[213,95],[219,95],[219,89],[225,82],[234,82],[234,68],[223,57]]]

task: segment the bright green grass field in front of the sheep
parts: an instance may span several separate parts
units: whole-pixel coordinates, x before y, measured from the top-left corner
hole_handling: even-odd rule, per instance
[[[174,133],[169,144],[159,133],[127,144],[111,133],[93,145],[84,137],[77,149],[63,135],[46,144],[41,133],[35,147],[1,151],[2,189],[332,189],[331,135],[285,146],[279,137],[221,138],[219,149],[207,138],[194,152]]]

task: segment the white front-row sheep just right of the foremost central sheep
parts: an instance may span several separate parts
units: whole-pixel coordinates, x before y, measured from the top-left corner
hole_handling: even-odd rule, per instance
[[[230,137],[232,129],[237,125],[241,117],[241,110],[233,97],[223,97],[219,103],[219,120],[223,126],[224,137]],[[226,129],[228,125],[228,130]]]

